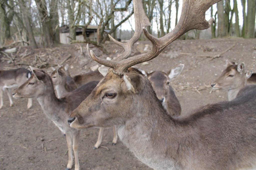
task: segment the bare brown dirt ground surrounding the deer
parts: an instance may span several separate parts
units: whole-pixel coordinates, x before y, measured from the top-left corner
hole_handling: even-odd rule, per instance
[[[71,75],[89,72],[90,67],[97,63],[89,58],[85,47],[85,44],[36,50],[21,47],[12,55],[15,57],[14,63],[7,64],[6,56],[0,54],[0,70],[27,68],[31,64],[51,71],[47,67],[64,61],[63,64],[69,64]],[[139,42],[134,45],[132,54],[140,54],[150,47],[148,41]],[[212,60],[212,57],[229,48],[219,58]],[[113,43],[106,44],[106,49],[110,51],[108,55],[92,49],[102,58],[116,57],[122,51]],[[225,69],[227,59],[244,62],[246,70],[256,72],[256,39],[178,40],[148,64],[138,66],[150,72],[169,71],[176,65],[185,64],[182,73],[171,84],[181,103],[182,114],[186,114],[204,104],[227,100],[224,90],[210,93],[210,83]],[[0,110],[0,169],[65,169],[68,162],[67,145],[60,130],[44,115],[36,99],[31,109],[26,108],[27,99],[13,100],[14,106],[9,107],[7,95],[4,94],[4,107]],[[109,150],[93,150],[97,135],[97,128],[82,130],[79,146],[81,169],[149,169],[121,141],[111,146],[112,128],[105,129],[102,142],[102,146]]]

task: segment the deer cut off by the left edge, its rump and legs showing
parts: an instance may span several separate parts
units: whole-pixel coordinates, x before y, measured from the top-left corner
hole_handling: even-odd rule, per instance
[[[17,88],[26,82],[31,75],[31,72],[25,68],[13,70],[0,70],[0,109],[3,107],[3,91],[6,91],[10,101],[10,107],[13,106],[10,89]],[[32,99],[28,99],[27,108],[32,107]]]

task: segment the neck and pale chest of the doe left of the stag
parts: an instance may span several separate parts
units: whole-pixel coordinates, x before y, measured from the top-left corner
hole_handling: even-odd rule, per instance
[[[37,100],[46,116],[65,133],[69,129],[68,114],[65,113],[65,100],[62,101],[56,97],[52,85],[47,87],[45,93],[38,96]]]

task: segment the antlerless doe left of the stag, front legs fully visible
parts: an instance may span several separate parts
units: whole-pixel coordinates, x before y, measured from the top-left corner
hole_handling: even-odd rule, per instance
[[[71,128],[67,122],[68,115],[91,93],[98,82],[90,82],[58,99],[54,93],[51,77],[42,70],[30,67],[34,73],[13,94],[15,98],[36,97],[46,116],[66,134],[68,145],[68,164],[73,164],[72,148],[75,156],[75,170],[79,170],[78,143],[80,130]]]

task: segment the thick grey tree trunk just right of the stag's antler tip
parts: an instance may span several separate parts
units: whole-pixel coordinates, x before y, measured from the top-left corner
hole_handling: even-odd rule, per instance
[[[218,13],[218,37],[227,36],[225,28],[225,18],[224,18],[224,6],[223,1],[217,3],[217,13]]]

